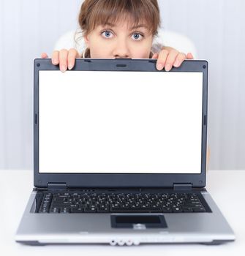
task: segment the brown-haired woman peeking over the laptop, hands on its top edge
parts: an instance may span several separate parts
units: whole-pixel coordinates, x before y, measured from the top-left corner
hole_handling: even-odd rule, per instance
[[[86,50],[54,50],[52,63],[62,72],[72,69],[75,58],[157,59],[157,69],[179,67],[184,59],[193,59],[178,50],[153,45],[160,25],[157,0],[85,0],[79,14]],[[47,58],[47,53],[42,53]]]

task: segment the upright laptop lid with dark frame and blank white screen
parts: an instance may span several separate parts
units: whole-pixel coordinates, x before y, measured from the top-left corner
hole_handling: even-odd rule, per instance
[[[34,60],[34,186],[206,184],[207,61]]]

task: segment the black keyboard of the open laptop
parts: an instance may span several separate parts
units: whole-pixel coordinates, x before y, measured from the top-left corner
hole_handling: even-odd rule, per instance
[[[193,213],[211,211],[198,193],[37,193],[37,213]],[[37,199],[36,197],[36,199]]]

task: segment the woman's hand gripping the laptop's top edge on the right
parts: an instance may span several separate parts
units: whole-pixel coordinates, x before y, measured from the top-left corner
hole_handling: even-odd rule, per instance
[[[192,53],[180,53],[178,50],[171,47],[164,47],[159,53],[154,53],[152,59],[157,59],[157,69],[170,71],[172,67],[181,66],[185,59],[193,59]]]

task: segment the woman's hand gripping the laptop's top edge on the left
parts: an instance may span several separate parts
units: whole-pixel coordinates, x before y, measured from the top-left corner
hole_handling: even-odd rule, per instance
[[[41,57],[43,59],[48,58],[48,54],[42,53]],[[52,64],[59,64],[59,69],[61,69],[62,72],[65,72],[67,70],[67,67],[69,70],[74,67],[76,58],[80,58],[80,55],[78,53],[78,50],[76,50],[75,48],[71,48],[69,50],[54,50],[52,54]]]

